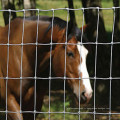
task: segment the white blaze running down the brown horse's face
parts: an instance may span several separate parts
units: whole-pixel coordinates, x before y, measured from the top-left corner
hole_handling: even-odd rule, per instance
[[[78,66],[78,71],[79,73],[82,73],[82,80],[83,80],[83,85],[85,87],[85,92],[88,95],[91,95],[92,87],[90,84],[89,74],[86,67],[86,57],[88,54],[88,50],[83,45],[77,45],[77,48],[80,53],[80,57],[82,58],[82,63],[80,62],[81,64]]]

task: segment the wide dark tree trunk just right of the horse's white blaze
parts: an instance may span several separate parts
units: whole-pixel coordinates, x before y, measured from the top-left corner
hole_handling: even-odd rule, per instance
[[[82,0],[83,7],[101,7],[101,0]],[[85,14],[85,22],[88,24],[86,28],[87,38],[90,42],[96,42],[97,37],[97,22],[98,22],[98,9],[88,9],[84,11]],[[108,42],[107,41],[107,33],[104,26],[104,20],[102,17],[102,11],[99,10],[99,29],[98,29],[98,40],[99,43],[101,42]],[[109,77],[109,56],[110,47],[97,45],[97,56],[96,56],[96,45],[91,45],[91,51],[89,51],[88,56],[88,70],[90,71],[90,76],[94,77]],[[96,60],[96,74],[95,74],[95,56],[97,57]],[[99,83],[99,84],[98,84]],[[105,95],[106,91],[109,93],[109,84],[106,82],[105,88],[106,90],[100,91],[98,89],[98,85],[101,87],[103,81],[96,81],[96,101],[99,104],[108,104],[107,97]],[[101,94],[102,93],[102,94]],[[98,95],[98,96],[97,96]],[[101,102],[102,95],[104,97],[104,101]]]

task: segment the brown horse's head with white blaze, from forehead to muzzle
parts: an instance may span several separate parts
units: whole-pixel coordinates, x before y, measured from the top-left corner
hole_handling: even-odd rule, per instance
[[[80,30],[75,33],[77,32],[80,32]],[[77,37],[77,35],[70,33],[68,35],[68,45],[56,46],[52,64],[53,71],[58,77],[66,75],[67,83],[77,98],[81,97],[84,102],[88,102],[92,97],[92,88],[86,66],[88,50],[80,44]]]

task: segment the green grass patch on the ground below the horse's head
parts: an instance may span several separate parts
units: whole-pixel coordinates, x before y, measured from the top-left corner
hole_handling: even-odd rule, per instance
[[[51,107],[50,111],[51,112],[63,112],[64,111],[64,91],[63,90],[55,90],[56,92],[51,92]],[[73,96],[70,96],[70,93],[66,92],[66,102],[65,102],[65,111],[66,112],[72,112],[76,113],[74,114],[65,114],[65,120],[78,120],[79,115],[78,110],[71,110],[70,108],[73,108],[72,104],[74,99]],[[75,107],[75,106],[74,106]],[[49,111],[49,99],[48,96],[45,97],[44,104],[42,106],[42,112],[48,112]],[[88,115],[81,115],[80,120],[84,120],[84,118],[88,118]],[[48,120],[49,114],[39,114],[37,120]],[[50,115],[51,120],[63,120],[64,119],[64,114],[63,113],[58,113],[58,114],[51,114]]]

